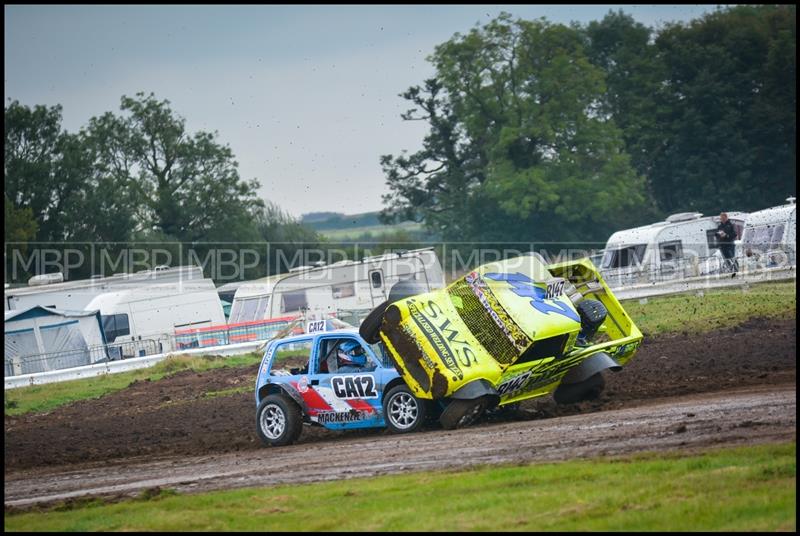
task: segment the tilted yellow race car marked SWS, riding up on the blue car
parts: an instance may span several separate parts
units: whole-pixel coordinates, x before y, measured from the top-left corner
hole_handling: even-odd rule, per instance
[[[597,396],[602,372],[620,370],[642,341],[588,259],[547,265],[531,253],[434,292],[409,288],[392,289],[360,334],[383,342],[414,395],[438,403],[448,429],[549,393],[559,403]]]

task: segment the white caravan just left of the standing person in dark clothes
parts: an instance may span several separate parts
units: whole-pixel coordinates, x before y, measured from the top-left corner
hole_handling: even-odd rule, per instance
[[[728,212],[737,240],[747,216]],[[718,224],[719,216],[682,212],[665,221],[617,231],[606,243],[600,266],[603,278],[617,287],[702,275],[707,272],[703,266],[719,250]]]

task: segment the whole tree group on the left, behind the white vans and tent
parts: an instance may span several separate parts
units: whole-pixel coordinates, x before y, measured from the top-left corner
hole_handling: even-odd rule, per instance
[[[94,244],[111,257],[157,245],[179,259],[188,248],[206,258],[224,244],[266,242],[292,258],[319,242],[313,230],[259,198],[258,181],[241,178],[217,133],[188,132],[169,101],[152,93],[123,96],[121,113],[93,117],[77,133],[62,128],[61,111],[18,101],[5,107],[5,241],[12,249],[64,245],[90,258]],[[72,276],[88,277],[95,268],[86,264]],[[268,273],[257,266],[246,276]]]

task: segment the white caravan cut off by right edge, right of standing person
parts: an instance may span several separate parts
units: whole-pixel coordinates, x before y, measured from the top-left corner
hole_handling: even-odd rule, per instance
[[[739,254],[744,269],[797,264],[797,206],[794,197],[786,202],[747,217]]]

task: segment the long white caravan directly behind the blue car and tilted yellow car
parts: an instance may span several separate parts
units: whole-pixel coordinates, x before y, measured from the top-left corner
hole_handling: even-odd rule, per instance
[[[368,312],[385,301],[401,280],[416,281],[427,291],[444,287],[444,272],[433,248],[340,261],[327,266],[302,266],[240,285],[229,324],[297,316],[311,312],[340,317],[348,311]]]

